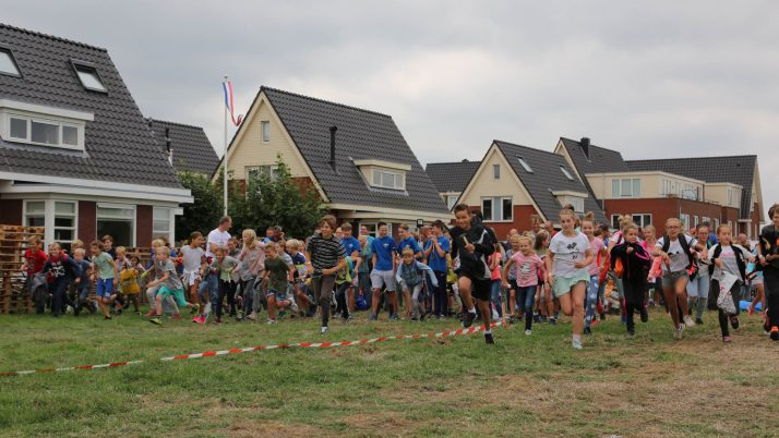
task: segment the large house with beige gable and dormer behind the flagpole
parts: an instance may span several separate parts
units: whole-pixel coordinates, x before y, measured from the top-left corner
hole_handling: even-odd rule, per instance
[[[228,171],[238,183],[273,175],[278,156],[340,221],[371,232],[379,221],[394,231],[451,217],[389,115],[263,86],[230,142]]]

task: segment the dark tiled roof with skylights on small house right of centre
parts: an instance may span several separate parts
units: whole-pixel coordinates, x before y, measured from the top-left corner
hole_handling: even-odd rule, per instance
[[[562,208],[552,192],[570,191],[589,194],[562,155],[498,139],[494,141],[494,144],[511,163],[512,170],[514,170],[514,173],[516,173],[517,178],[523,182],[527,192],[532,197],[532,200],[547,219],[555,220]],[[522,157],[525,162],[527,162],[532,172],[528,172],[523,168],[518,157]],[[573,175],[573,181],[563,174],[563,171],[560,169],[561,167]],[[592,196],[585,198],[585,211],[592,211],[596,221],[607,222],[603,210],[601,210]]]

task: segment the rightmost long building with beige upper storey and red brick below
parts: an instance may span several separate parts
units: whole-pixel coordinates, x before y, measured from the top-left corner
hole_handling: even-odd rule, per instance
[[[640,227],[662,230],[668,218],[683,227],[730,223],[754,238],[763,220],[756,156],[670,158],[627,161],[589,138],[561,137],[555,153],[565,157],[613,228],[626,214]]]

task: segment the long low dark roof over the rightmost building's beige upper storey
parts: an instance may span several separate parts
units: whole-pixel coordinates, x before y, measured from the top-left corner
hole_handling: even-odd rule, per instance
[[[631,171],[663,171],[708,183],[729,182],[739,184],[741,193],[741,219],[748,219],[752,206],[753,182],[757,167],[756,155],[731,157],[668,158],[659,160],[626,161]]]

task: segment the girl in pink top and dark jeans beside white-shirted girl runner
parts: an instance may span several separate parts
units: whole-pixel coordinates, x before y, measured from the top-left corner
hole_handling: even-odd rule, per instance
[[[512,256],[503,268],[503,287],[510,285],[511,273],[514,272],[514,288],[520,309],[525,313],[525,334],[530,336],[532,334],[532,305],[538,289],[538,272],[543,272],[544,263],[532,251],[530,236],[514,234],[511,244]]]

